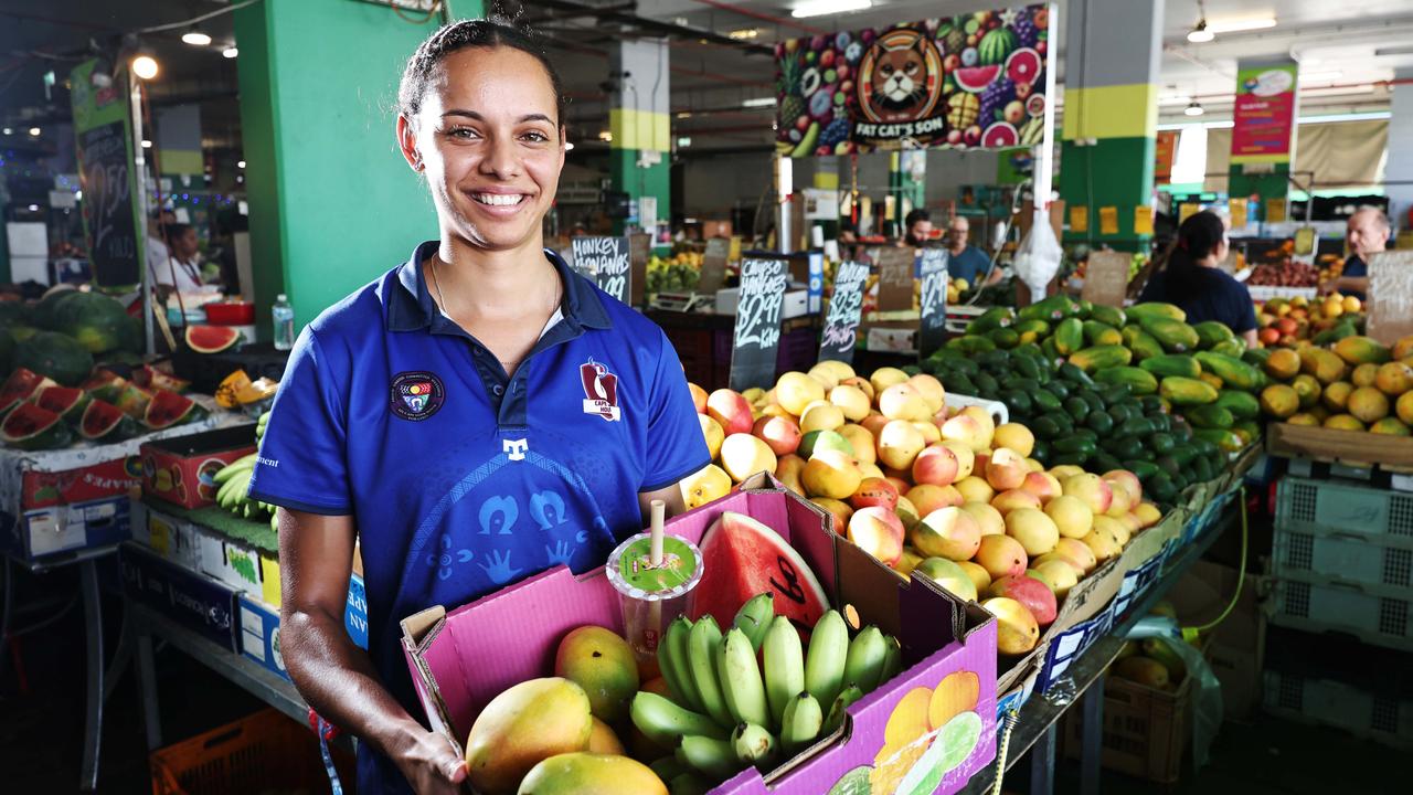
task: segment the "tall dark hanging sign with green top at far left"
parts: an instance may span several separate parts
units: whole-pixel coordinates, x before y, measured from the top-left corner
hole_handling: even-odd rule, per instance
[[[69,72],[73,139],[83,190],[83,235],[93,283],[126,289],[143,280],[143,218],[133,168],[133,130],[123,81],[95,72],[96,59]]]

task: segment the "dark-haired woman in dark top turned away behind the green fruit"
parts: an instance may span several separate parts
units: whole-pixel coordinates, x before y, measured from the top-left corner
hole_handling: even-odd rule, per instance
[[[1215,320],[1256,347],[1256,308],[1251,291],[1222,272],[1226,259],[1226,224],[1214,212],[1191,215],[1177,228],[1167,263],[1139,296],[1143,301],[1167,301],[1187,313],[1188,323]]]

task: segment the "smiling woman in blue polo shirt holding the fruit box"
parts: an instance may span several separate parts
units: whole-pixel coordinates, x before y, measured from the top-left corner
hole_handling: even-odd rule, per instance
[[[709,455],[663,331],[544,248],[564,93],[531,34],[434,33],[403,74],[397,137],[439,239],[300,335],[250,495],[280,505],[290,676],[360,738],[359,791],[463,792],[398,621],[601,566],[650,499],[681,509],[678,481]],[[355,540],[366,654],[343,629]]]

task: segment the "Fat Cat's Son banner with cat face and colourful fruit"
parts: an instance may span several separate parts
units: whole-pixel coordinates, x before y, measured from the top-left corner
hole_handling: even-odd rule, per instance
[[[975,11],[776,45],[776,149],[1007,149],[1046,132],[1050,6]]]

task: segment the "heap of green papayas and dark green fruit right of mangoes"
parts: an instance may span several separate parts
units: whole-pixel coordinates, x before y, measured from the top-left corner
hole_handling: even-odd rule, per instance
[[[1260,437],[1266,376],[1245,342],[1171,304],[1125,311],[1054,296],[992,308],[923,369],[1006,403],[1036,431],[1037,460],[1132,470],[1160,504]]]

